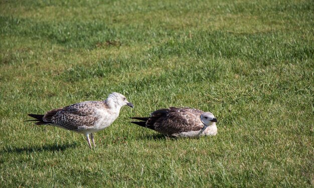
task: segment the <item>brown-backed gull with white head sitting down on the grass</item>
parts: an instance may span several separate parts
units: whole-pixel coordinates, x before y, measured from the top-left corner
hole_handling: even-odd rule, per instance
[[[217,134],[217,119],[211,112],[188,107],[156,110],[149,117],[130,117],[131,121],[164,134],[167,137],[200,137]]]

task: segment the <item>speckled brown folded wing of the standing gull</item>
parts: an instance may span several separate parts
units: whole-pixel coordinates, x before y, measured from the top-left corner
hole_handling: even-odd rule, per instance
[[[95,110],[103,107],[104,104],[99,101],[85,101],[62,109],[51,110],[45,114],[43,119],[68,130],[78,130],[81,126],[94,126],[98,120]]]

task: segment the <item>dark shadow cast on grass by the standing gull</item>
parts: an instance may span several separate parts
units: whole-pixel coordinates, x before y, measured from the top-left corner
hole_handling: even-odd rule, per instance
[[[0,151],[0,153],[32,153],[42,151],[64,151],[68,148],[75,148],[77,143],[66,144],[49,144],[42,146],[26,146],[26,147],[7,147]]]

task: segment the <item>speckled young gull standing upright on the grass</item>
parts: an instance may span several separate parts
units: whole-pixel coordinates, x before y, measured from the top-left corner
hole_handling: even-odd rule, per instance
[[[63,108],[52,109],[43,115],[28,114],[35,119],[26,121],[36,121],[36,125],[53,125],[84,134],[91,149],[90,139],[96,147],[94,133],[111,125],[119,116],[120,109],[124,105],[134,107],[124,95],[113,92],[104,101],[75,103]]]

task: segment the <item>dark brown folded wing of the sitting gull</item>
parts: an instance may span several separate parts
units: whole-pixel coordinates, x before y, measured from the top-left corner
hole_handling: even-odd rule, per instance
[[[170,107],[152,112],[147,124],[166,135],[198,131],[204,127],[201,114],[202,111],[197,109]]]

